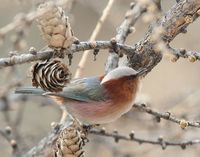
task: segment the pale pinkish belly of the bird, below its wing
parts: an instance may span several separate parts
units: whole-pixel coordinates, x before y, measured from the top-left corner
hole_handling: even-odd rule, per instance
[[[128,112],[133,103],[117,104],[113,102],[68,102],[66,108],[70,114],[87,124],[109,123]]]

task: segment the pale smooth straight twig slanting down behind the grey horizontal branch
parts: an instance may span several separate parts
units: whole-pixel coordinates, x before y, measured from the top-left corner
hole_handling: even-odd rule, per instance
[[[108,15],[110,13],[110,10],[111,10],[114,2],[115,2],[115,0],[109,0],[108,1],[105,9],[103,10],[103,13],[102,13],[100,19],[97,22],[95,29],[92,32],[92,35],[90,36],[89,41],[94,41],[96,39],[96,37],[98,36],[98,34],[99,34],[99,32],[100,32],[100,30],[103,26],[103,23],[105,22],[105,20],[107,19]],[[83,71],[83,68],[85,67],[88,55],[89,55],[89,50],[86,50],[83,53],[81,60],[79,61],[78,68],[76,70],[74,78],[79,78],[81,76],[81,73]]]

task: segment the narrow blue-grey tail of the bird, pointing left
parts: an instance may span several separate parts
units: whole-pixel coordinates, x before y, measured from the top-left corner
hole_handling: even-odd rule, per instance
[[[41,88],[34,87],[20,87],[15,90],[16,94],[32,94],[32,95],[43,95],[45,93]]]

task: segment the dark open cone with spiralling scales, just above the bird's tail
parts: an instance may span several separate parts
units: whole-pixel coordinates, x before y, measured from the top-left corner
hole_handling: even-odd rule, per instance
[[[45,91],[62,91],[70,78],[69,69],[59,60],[38,62],[32,67],[32,86],[39,86]]]

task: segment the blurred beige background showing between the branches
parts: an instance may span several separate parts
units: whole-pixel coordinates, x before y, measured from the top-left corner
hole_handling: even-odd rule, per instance
[[[38,0],[0,0],[0,28],[9,24],[19,13],[28,13],[37,8]],[[129,9],[131,0],[116,0],[108,19],[97,40],[110,40],[116,34],[117,27],[124,20],[124,15]],[[175,0],[162,0],[163,12],[175,4]],[[69,20],[75,36],[80,41],[87,41],[101,16],[107,0],[75,0],[70,11],[67,11]],[[199,33],[200,19],[188,27],[186,34],[178,35],[171,46],[174,48],[185,48],[186,50],[200,51]],[[140,19],[135,25],[136,32],[130,34],[126,44],[134,44],[144,36],[148,25]],[[27,52],[33,46],[37,50],[46,44],[42,40],[36,22],[25,28],[22,38],[18,39],[17,33],[12,31],[6,35],[0,46],[0,57],[7,57],[10,51],[20,49],[20,53]],[[70,66],[74,74],[82,52],[76,53]],[[97,60],[93,61],[93,55],[88,58],[82,76],[101,75],[107,51],[100,51]],[[68,60],[66,59],[66,62]],[[11,126],[17,132],[19,143],[25,151],[47,135],[51,130],[50,124],[58,122],[61,116],[59,108],[50,100],[40,97],[28,97],[28,99],[17,100],[13,91],[15,83],[23,82],[23,86],[31,85],[30,67],[31,63],[17,65],[0,69],[0,93],[6,92],[11,102],[5,103],[0,100],[0,129]],[[139,99],[145,101],[152,108],[159,111],[170,111],[179,118],[188,120],[200,120],[200,73],[199,61],[191,63],[187,59],[179,59],[171,62],[167,57],[144,78],[143,87]],[[7,90],[9,88],[9,90]],[[10,89],[11,88],[11,89]],[[156,139],[163,136],[166,140],[183,141],[187,139],[199,139],[199,130],[187,128],[182,130],[177,124],[161,120],[157,123],[154,117],[143,112],[132,110],[117,121],[104,125],[108,131],[118,130],[121,134],[128,135],[131,130],[135,131],[137,137]],[[200,154],[200,146],[189,146],[186,150],[180,147],[167,147],[162,150],[160,146],[141,144],[134,142],[119,141],[115,143],[111,138],[89,135],[90,142],[85,146],[86,157],[171,157],[177,155],[182,157]],[[0,136],[0,156],[12,156],[10,144]]]

